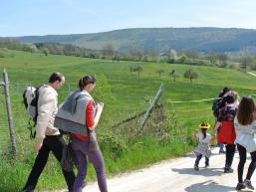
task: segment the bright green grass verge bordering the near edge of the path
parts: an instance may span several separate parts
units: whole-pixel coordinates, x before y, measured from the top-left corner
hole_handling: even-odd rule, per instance
[[[192,149],[192,146],[185,142],[169,141],[167,143],[161,143],[150,137],[145,137],[133,142],[136,144],[128,150],[123,151],[122,155],[119,157],[111,158],[112,155],[108,149],[103,151],[108,177],[117,173],[141,168],[162,159],[180,156]],[[31,154],[27,157],[27,159],[30,158],[27,162],[25,162],[26,160],[10,161],[1,159],[0,174],[4,176],[0,177],[0,191],[20,191],[30,173],[34,157],[35,155]],[[96,180],[96,173],[91,163],[89,164],[87,180]],[[66,183],[59,163],[51,156],[40,177],[37,191],[58,188],[66,188]]]

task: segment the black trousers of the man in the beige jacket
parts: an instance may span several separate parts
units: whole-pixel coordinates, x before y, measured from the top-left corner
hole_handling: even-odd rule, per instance
[[[62,135],[51,135],[51,136],[45,137],[43,141],[43,146],[38,152],[35,163],[33,165],[33,168],[30,172],[29,178],[23,190],[25,189],[33,190],[36,188],[38,179],[47,163],[50,151],[52,151],[54,156],[58,159],[58,161],[61,162],[64,145],[65,145],[65,141]],[[62,171],[65,177],[65,180],[67,182],[69,191],[72,191],[76,176],[73,171],[69,172],[63,169]]]

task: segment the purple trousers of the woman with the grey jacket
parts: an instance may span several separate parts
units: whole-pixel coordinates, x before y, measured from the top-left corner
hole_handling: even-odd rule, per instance
[[[74,192],[82,192],[83,183],[87,176],[87,157],[94,165],[97,173],[98,185],[101,192],[108,192],[105,163],[101,149],[98,148],[94,151],[90,151],[89,141],[84,141],[78,138],[72,138],[72,148],[78,163],[78,174],[74,183]]]

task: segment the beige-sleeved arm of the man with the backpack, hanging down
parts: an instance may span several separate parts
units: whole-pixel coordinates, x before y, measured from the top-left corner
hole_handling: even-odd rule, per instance
[[[54,112],[56,98],[51,93],[42,93],[42,96],[39,96],[38,101],[38,116],[36,124],[37,143],[34,147],[37,151],[42,147],[46,127],[48,126],[50,118]]]

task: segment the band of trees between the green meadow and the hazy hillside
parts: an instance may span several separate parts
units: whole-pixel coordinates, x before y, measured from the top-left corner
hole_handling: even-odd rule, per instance
[[[167,48],[162,53],[158,53],[157,51],[153,50],[144,51],[137,48],[130,48],[126,52],[121,52],[115,50],[115,47],[111,44],[105,45],[102,50],[91,50],[70,44],[23,44],[14,38],[0,38],[0,48],[31,53],[43,53],[45,56],[48,56],[48,54],[54,54],[92,59],[107,59],[112,60],[113,62],[160,62],[168,64],[187,64],[242,70],[256,70],[256,53],[252,53],[246,49],[243,49],[237,53],[198,53],[193,50],[183,50],[177,52],[171,48]],[[4,57],[4,54],[1,52],[0,57]]]

